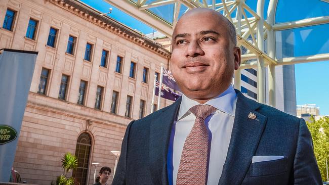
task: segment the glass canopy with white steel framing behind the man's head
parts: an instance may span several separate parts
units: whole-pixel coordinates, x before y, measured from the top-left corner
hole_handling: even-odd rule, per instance
[[[169,38],[177,20],[190,9],[209,8],[222,13],[236,28],[238,46],[242,49],[240,68],[258,70],[258,101],[261,103],[265,102],[262,88],[267,78],[266,67],[275,73],[274,67],[279,65],[329,61],[329,0],[80,1],[96,9],[99,6],[98,10],[104,13],[104,7],[113,7],[108,15],[111,18],[146,36],[158,32],[157,35]],[[267,80],[268,90],[273,91],[273,75]],[[269,105],[275,106],[275,95],[270,94],[269,99]]]

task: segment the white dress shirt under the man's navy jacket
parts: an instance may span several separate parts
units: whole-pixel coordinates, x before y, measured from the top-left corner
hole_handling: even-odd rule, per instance
[[[208,185],[218,184],[225,163],[228,146],[230,144],[231,133],[234,122],[236,94],[230,85],[221,95],[204,103],[211,105],[218,110],[208,116],[204,122],[212,133],[210,161],[208,169]],[[186,137],[192,130],[195,116],[189,111],[194,105],[199,103],[182,96],[177,117],[174,147],[173,147],[173,183],[176,184],[178,167],[182,156],[182,151]]]

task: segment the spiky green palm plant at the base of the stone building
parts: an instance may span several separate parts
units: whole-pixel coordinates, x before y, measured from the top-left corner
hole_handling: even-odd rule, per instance
[[[71,153],[66,153],[63,158],[61,159],[62,162],[62,168],[63,168],[63,174],[58,176],[56,179],[57,185],[73,185],[74,179],[73,177],[66,177],[67,173],[69,173],[70,170],[73,170],[77,167],[77,158],[75,155],[72,155]]]

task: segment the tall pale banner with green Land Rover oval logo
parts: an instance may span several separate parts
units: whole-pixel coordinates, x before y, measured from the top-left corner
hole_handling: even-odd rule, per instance
[[[9,182],[37,52],[0,54],[0,181]]]

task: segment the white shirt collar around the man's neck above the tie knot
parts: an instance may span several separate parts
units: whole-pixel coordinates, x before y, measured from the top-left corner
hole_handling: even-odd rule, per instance
[[[204,104],[211,105],[216,109],[227,113],[231,116],[235,115],[235,105],[236,105],[236,93],[232,85],[230,85],[222,94],[213,98]],[[182,96],[182,102],[179,107],[179,113],[177,120],[181,119],[185,114],[190,113],[190,108],[199,105],[198,102],[189,99],[184,94]]]

